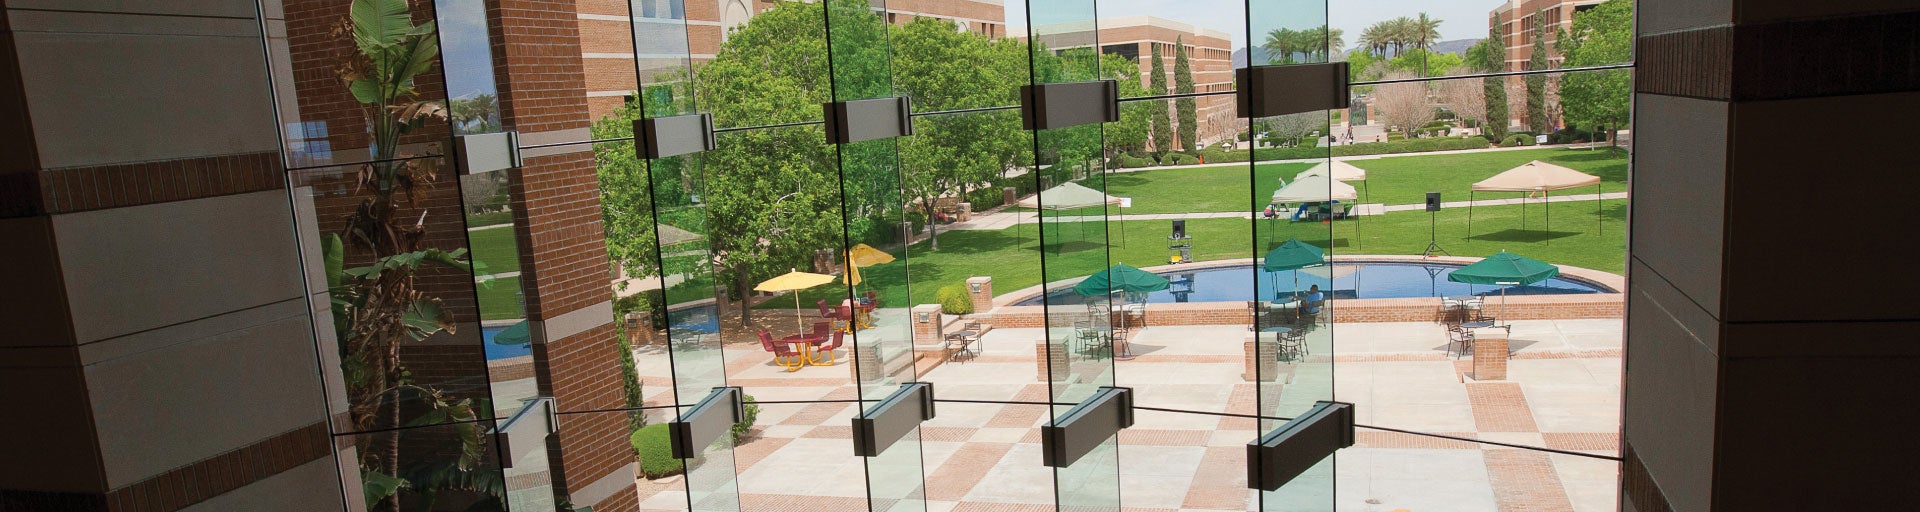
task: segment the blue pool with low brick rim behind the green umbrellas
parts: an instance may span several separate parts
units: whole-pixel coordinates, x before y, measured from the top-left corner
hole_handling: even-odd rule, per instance
[[[1463,265],[1448,263],[1334,263],[1332,267],[1298,270],[1300,286],[1294,288],[1294,270],[1265,272],[1252,265],[1213,267],[1194,270],[1160,270],[1156,274],[1173,282],[1167,290],[1146,293],[1148,303],[1210,303],[1210,301],[1252,301],[1258,290],[1261,299],[1275,293],[1308,290],[1319,286],[1334,299],[1404,299],[1404,297],[1453,297],[1453,295],[1500,295],[1500,286],[1461,284],[1446,280],[1453,268]],[[1507,288],[1507,295],[1561,295],[1561,293],[1613,293],[1613,290],[1557,276],[1530,286]],[[1054,305],[1077,305],[1081,295],[1073,290],[1054,290],[1046,293]],[[1021,299],[1014,305],[1043,305],[1041,295]]]

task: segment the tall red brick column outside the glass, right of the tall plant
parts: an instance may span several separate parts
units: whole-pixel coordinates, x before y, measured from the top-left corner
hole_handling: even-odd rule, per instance
[[[578,23],[568,0],[488,2],[501,121],[522,140],[589,136]],[[561,410],[624,407],[591,148],[522,157],[509,194],[540,387]],[[574,506],[637,508],[624,414],[566,414],[549,447],[557,493]]]

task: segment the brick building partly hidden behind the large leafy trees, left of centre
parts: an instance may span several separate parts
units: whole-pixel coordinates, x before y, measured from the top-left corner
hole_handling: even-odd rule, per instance
[[[720,52],[730,29],[747,23],[755,13],[774,8],[770,0],[589,0],[580,2],[580,50],[588,77],[588,113],[607,115],[637,88],[636,63],[647,69],[695,69]],[[881,2],[876,2],[881,4]],[[885,2],[889,23],[900,25],[918,17],[947,19],[960,29],[1006,36],[1006,6],[1002,0],[893,0]],[[682,25],[684,21],[684,25]],[[682,35],[682,27],[685,33]],[[636,40],[639,40],[636,48]]]

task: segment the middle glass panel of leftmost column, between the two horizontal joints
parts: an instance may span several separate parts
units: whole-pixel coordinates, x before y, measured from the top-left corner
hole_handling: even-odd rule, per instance
[[[445,167],[434,157],[288,176],[313,307],[332,318],[315,334],[330,403],[353,430],[449,422],[430,410],[455,405],[493,416],[461,188]],[[434,180],[378,192],[403,176]],[[382,236],[396,232],[409,236]],[[396,290],[413,299],[386,299]]]

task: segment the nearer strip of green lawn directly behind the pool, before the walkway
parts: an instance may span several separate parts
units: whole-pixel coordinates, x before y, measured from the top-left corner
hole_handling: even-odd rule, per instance
[[[1244,176],[1244,175],[1242,175]],[[1438,242],[1457,257],[1484,257],[1501,249],[1534,257],[1548,263],[1574,265],[1607,272],[1620,272],[1626,267],[1626,201],[1601,201],[1605,219],[1596,217],[1594,201],[1559,203],[1553,207],[1553,230],[1542,230],[1542,205],[1528,205],[1524,211],[1526,228],[1521,228],[1523,211],[1519,205],[1476,207],[1473,209],[1473,236],[1467,238],[1467,209],[1446,209],[1434,219],[1438,222]],[[1425,211],[1398,211],[1357,221],[1325,222],[1286,222],[1286,221],[1244,221],[1244,219],[1196,219],[1187,222],[1196,261],[1244,259],[1254,257],[1254,240],[1265,242],[1260,247],[1279,245],[1286,238],[1332,247],[1334,255],[1417,255],[1427,249],[1428,222]],[[1066,240],[1062,251],[1048,244],[1044,253],[1050,280],[1073,278],[1098,272],[1106,261],[1133,267],[1165,265],[1167,221],[1129,221],[1106,222],[1114,244],[1102,249],[1096,224],[1087,224],[1091,232],[1079,234],[1079,226],[1066,224],[1060,234],[1048,228],[1048,240]],[[1121,226],[1125,224],[1125,226]],[[1121,236],[1125,232],[1125,236]],[[1551,244],[1549,244],[1551,242]],[[970,276],[993,276],[995,291],[1008,293],[1020,288],[1041,284],[1043,259],[1033,257],[1037,240],[1033,224],[1020,230],[956,230],[941,234],[941,249],[929,251],[927,244],[914,244],[910,259],[860,268],[866,282],[860,290],[879,290],[885,307],[906,307],[935,303],[941,286],[964,284]],[[1263,249],[1261,249],[1263,251]],[[900,251],[893,251],[897,257]],[[912,267],[912,297],[904,297],[904,268]],[[812,288],[801,293],[803,307],[816,299],[837,303],[847,297],[847,288],[839,282]],[[764,303],[762,307],[793,307],[791,297]]]

